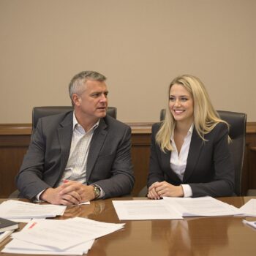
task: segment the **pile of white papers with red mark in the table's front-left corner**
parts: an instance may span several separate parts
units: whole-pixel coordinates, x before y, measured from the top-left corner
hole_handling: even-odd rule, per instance
[[[94,239],[124,227],[124,224],[91,219],[37,219],[12,235],[13,240],[1,252],[22,254],[83,255]]]

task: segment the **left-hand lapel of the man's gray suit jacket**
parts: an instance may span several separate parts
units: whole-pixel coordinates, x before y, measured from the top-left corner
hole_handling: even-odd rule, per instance
[[[59,136],[59,145],[61,147],[61,165],[60,171],[61,175],[65,170],[67,165],[67,160],[69,159],[69,151],[72,140],[72,129],[73,129],[73,111],[70,112],[63,121],[59,124],[57,130]]]

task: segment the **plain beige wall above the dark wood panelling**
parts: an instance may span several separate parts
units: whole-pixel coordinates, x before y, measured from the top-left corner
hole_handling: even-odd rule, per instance
[[[0,123],[69,105],[77,72],[108,77],[121,121],[157,121],[168,83],[197,75],[217,109],[256,121],[255,0],[0,0]]]

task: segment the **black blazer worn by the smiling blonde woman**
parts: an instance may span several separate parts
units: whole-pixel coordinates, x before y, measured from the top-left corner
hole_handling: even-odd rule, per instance
[[[151,135],[151,157],[148,187],[156,181],[173,185],[189,184],[192,196],[222,197],[234,195],[235,170],[228,146],[225,123],[217,124],[203,141],[193,129],[183,181],[170,168],[170,151],[162,152],[156,143],[161,123],[154,124]]]

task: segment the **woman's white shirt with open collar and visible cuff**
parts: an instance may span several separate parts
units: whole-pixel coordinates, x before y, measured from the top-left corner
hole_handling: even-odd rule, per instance
[[[178,154],[178,150],[173,139],[173,135],[171,136],[171,145],[173,146],[173,151],[170,154],[170,167],[178,175],[178,178],[183,180],[184,172],[187,166],[187,156],[189,154],[189,146],[191,143],[192,132],[194,129],[194,124],[191,125],[189,131],[187,132],[186,137],[184,138],[184,143],[181,146],[181,151]],[[184,197],[191,197],[192,196],[192,189],[188,184],[181,184]]]

